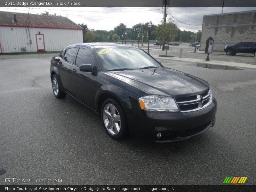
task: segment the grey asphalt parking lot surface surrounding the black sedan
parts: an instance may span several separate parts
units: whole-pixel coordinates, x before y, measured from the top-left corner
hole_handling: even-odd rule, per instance
[[[256,184],[255,69],[161,59],[208,81],[218,110],[208,131],[159,144],[134,136],[112,140],[91,109],[69,96],[56,99],[51,56],[0,60],[0,170],[7,171],[0,185],[29,184],[6,183],[7,177],[61,179],[54,183],[61,185],[221,185],[228,176]]]

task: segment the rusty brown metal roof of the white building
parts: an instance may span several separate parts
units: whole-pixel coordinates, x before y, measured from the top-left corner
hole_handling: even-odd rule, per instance
[[[0,11],[0,26],[29,27],[36,28],[58,28],[58,29],[83,29],[67,17],[38,15],[28,13],[16,13],[17,22],[14,22],[13,12]]]

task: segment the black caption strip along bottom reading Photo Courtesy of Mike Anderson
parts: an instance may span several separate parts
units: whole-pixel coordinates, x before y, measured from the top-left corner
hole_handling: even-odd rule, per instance
[[[255,185],[1,185],[1,192],[255,192]]]

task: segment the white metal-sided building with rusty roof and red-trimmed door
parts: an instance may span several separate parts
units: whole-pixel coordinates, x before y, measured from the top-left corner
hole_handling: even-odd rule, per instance
[[[0,11],[0,53],[61,51],[83,43],[82,30],[67,17]]]

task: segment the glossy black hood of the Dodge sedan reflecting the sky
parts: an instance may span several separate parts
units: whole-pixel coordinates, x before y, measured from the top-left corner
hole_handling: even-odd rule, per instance
[[[170,68],[111,71],[107,73],[148,94],[187,97],[209,90],[209,84],[206,81]]]

